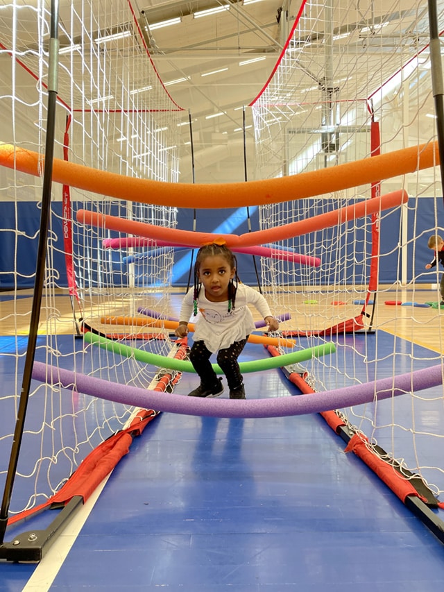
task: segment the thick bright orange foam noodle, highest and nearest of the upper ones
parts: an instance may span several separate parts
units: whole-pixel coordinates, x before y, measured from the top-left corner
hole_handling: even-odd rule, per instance
[[[58,158],[53,160],[52,178],[56,183],[139,203],[176,208],[239,208],[330,194],[427,169],[438,162],[438,144],[430,142],[318,171],[239,183],[166,183],[99,171]],[[43,155],[37,152],[12,144],[0,146],[3,167],[42,176],[43,163]]]

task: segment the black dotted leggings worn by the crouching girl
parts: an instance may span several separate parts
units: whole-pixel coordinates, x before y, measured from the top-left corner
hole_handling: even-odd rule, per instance
[[[221,349],[217,353],[216,362],[221,366],[223,373],[227,377],[230,391],[241,387],[243,382],[237,358],[244,349],[247,340],[248,335],[246,339],[234,341],[234,344],[231,344],[229,348]],[[201,384],[210,389],[217,382],[216,373],[210,362],[211,355],[212,353],[205,347],[203,341],[195,341],[189,353],[189,360],[193,364],[196,373],[198,373]]]

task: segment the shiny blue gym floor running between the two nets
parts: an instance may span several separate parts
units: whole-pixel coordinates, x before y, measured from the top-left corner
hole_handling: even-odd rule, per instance
[[[378,357],[386,348],[391,368],[402,340],[381,335]],[[247,347],[250,359],[257,346]],[[262,348],[258,355],[264,357]],[[416,357],[431,365],[436,353],[418,348]],[[6,366],[1,369],[7,388],[10,376]],[[368,376],[368,367],[362,371]],[[281,371],[245,378],[252,398],[296,393]],[[185,394],[195,384],[195,375],[184,375],[176,392]],[[409,414],[410,406],[398,399]],[[378,412],[380,420],[383,405]],[[162,413],[114,469],[47,589],[342,592],[356,586],[360,592],[427,592],[442,587],[443,543],[344,448],[318,414],[242,420]],[[430,455],[443,466],[442,446]],[[37,528],[44,519],[37,519]],[[36,568],[0,562],[0,591],[42,592],[46,588],[25,587]]]

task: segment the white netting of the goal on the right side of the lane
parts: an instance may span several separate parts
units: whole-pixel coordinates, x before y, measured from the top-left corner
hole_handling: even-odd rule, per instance
[[[319,171],[336,164],[436,141],[430,75],[427,3],[393,0],[307,1],[270,83],[253,101],[260,171],[268,177]],[[444,6],[438,2],[438,29]],[[379,125],[379,132],[377,130]],[[379,141],[380,134],[380,141]],[[441,314],[438,309],[384,305],[385,301],[440,301],[439,275],[425,273],[433,253],[427,239],[443,228],[443,200],[438,167],[383,180],[380,187],[362,185],[260,208],[262,228],[305,220],[345,205],[405,189],[406,205],[372,217],[350,220],[280,243],[321,259],[320,267],[296,267],[262,260],[264,289],[277,310],[292,314],[291,327],[311,332],[303,344],[317,342],[313,333],[356,319],[375,335],[343,328],[333,339],[341,347],[332,359],[310,367],[316,390],[359,384],[418,367],[441,363]],[[310,188],[312,189],[312,188]],[[441,229],[441,230],[440,230]],[[378,234],[379,231],[379,234]],[[376,251],[373,249],[376,248]],[[378,270],[371,265],[377,260]],[[370,289],[370,292],[369,292]],[[426,289],[429,291],[427,292]],[[428,294],[428,296],[427,296]],[[379,314],[373,306],[379,303]],[[364,309],[364,316],[360,316]],[[353,325],[353,323],[352,323]],[[424,343],[432,351],[394,340],[378,329]],[[436,352],[436,353],[434,353]],[[389,405],[388,403],[386,405]],[[405,408],[407,406],[407,409]],[[444,490],[443,464],[431,449],[443,446],[443,391],[407,395],[393,402],[392,412],[368,405],[346,410],[350,424],[381,443],[396,459],[405,459]],[[434,418],[433,420],[431,418]],[[405,434],[410,434],[408,438]]]

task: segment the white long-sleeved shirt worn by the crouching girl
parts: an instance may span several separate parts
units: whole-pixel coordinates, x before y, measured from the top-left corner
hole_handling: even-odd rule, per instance
[[[255,330],[252,304],[265,319],[271,316],[264,296],[245,284],[238,284],[234,309],[228,312],[228,301],[210,302],[205,297],[204,287],[198,295],[198,314],[194,316],[193,290],[189,290],[182,301],[180,321],[194,323],[194,341],[202,340],[212,353],[228,348],[234,341],[241,341]]]

